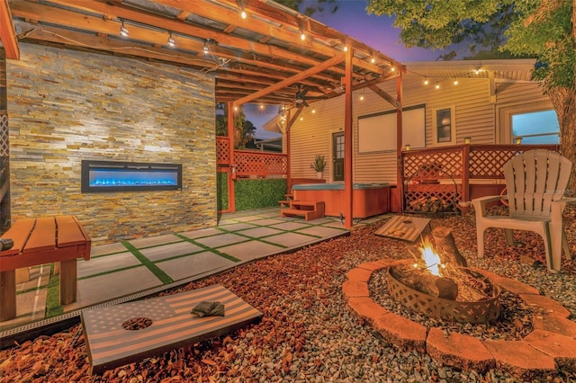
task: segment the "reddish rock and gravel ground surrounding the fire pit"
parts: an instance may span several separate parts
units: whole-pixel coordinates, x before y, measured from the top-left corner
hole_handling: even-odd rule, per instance
[[[564,212],[565,229],[576,258],[576,209]],[[155,358],[89,374],[82,325],[40,336],[0,351],[0,380],[6,382],[517,382],[502,370],[478,373],[443,366],[427,354],[384,343],[372,326],[347,306],[342,295],[346,273],[360,263],[410,257],[418,244],[375,236],[383,221],[343,236],[275,255],[230,272],[196,281],[177,293],[214,283],[234,292],[264,313],[257,325]],[[546,271],[542,239],[518,232],[518,247],[506,246],[501,230],[486,232],[486,257],[476,257],[472,214],[432,219],[432,227],[452,229],[456,246],[471,266],[534,286],[576,317],[576,260],[563,271]],[[386,301],[383,273],[374,273],[371,292]],[[451,331],[479,337],[518,339],[527,331],[530,308],[506,298],[508,319],[501,325],[444,324]],[[402,315],[419,316],[397,307]],[[518,317],[518,321],[515,321]],[[420,318],[423,321],[429,320]],[[434,320],[434,325],[438,325]],[[466,328],[468,327],[468,328]],[[530,381],[576,381],[574,370]]]

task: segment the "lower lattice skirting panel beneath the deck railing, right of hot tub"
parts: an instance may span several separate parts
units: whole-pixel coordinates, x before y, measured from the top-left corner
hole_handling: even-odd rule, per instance
[[[408,185],[405,192],[406,212],[455,212],[456,200],[462,197],[462,185],[454,183]]]

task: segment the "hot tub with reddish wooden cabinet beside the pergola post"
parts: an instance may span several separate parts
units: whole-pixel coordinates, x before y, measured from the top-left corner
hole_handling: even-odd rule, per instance
[[[344,183],[303,183],[292,187],[294,200],[323,200],[327,216],[344,215]],[[352,191],[354,218],[367,218],[390,211],[390,184],[355,183]]]

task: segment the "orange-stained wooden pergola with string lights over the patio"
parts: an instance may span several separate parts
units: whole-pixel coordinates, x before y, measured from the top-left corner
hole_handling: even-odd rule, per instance
[[[0,40],[14,60],[19,44],[33,43],[195,68],[214,76],[215,101],[228,103],[229,113],[247,102],[298,108],[287,123],[288,143],[304,107],[296,102],[299,90],[310,102],[344,94],[347,227],[354,91],[369,87],[397,109],[400,159],[401,63],[273,1],[0,0]],[[394,96],[376,86],[391,79],[397,81]]]

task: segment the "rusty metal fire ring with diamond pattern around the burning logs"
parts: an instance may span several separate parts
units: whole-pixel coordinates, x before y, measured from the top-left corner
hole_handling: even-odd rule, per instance
[[[446,298],[438,298],[416,289],[412,289],[392,275],[392,269],[388,272],[387,285],[392,298],[400,302],[404,307],[409,307],[429,317],[440,317],[445,320],[462,323],[486,323],[498,319],[500,316],[500,289],[494,298],[479,302],[460,302]],[[478,274],[478,273],[476,273]],[[476,278],[490,283],[482,274]]]

